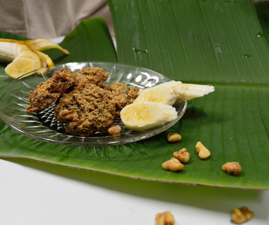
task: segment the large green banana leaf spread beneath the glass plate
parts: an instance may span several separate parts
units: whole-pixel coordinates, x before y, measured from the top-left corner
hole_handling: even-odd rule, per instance
[[[183,118],[167,131],[125,145],[49,144],[23,136],[2,122],[0,156],[163,182],[269,188],[269,49],[266,39],[257,35],[263,31],[252,1],[108,3],[119,62],[153,69],[184,83],[211,84],[215,92],[189,101]],[[48,50],[54,62],[117,61],[102,19],[83,21],[60,45],[71,54],[65,57]],[[4,66],[0,88],[10,81]],[[180,133],[182,140],[167,142],[169,132]],[[197,156],[197,141],[211,151],[208,159]],[[161,163],[184,147],[191,156],[184,170],[163,170]],[[239,176],[221,170],[228,161],[240,162]]]

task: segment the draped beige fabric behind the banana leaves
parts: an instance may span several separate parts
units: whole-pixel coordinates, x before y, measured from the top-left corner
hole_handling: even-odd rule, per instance
[[[0,30],[29,38],[66,35],[95,16],[104,17],[114,35],[105,0],[0,0]]]

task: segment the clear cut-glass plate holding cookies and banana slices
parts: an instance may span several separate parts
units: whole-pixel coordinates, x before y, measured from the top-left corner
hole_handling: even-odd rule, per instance
[[[178,113],[177,119],[163,126],[143,131],[130,130],[122,124],[120,118],[117,118],[114,120],[113,126],[121,126],[122,130],[119,135],[112,136],[108,133],[96,132],[87,137],[73,136],[65,131],[65,124],[55,122],[55,104],[36,113],[26,113],[25,111],[25,107],[29,104],[29,91],[34,90],[42,81],[52,77],[54,71],[63,67],[73,72],[86,67],[102,67],[104,71],[110,72],[104,85],[121,82],[128,86],[144,89],[170,81],[167,77],[149,69],[119,63],[66,63],[42,68],[15,79],[1,91],[0,117],[3,121],[18,132],[37,140],[73,146],[105,146],[130,143],[159,134],[173,126],[185,113],[187,102],[181,102],[174,105]]]

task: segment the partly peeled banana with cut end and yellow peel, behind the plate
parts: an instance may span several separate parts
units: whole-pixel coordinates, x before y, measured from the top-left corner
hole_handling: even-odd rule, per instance
[[[5,68],[5,73],[15,79],[41,67],[54,65],[52,59],[41,52],[51,48],[69,54],[66,49],[47,39],[0,39],[0,61],[10,63]]]

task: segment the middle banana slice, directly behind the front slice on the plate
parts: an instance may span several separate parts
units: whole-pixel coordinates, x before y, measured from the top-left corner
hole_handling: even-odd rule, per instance
[[[167,105],[173,105],[177,98],[185,91],[180,81],[170,81],[146,91],[139,92],[139,96],[134,103],[138,102],[157,102]]]

